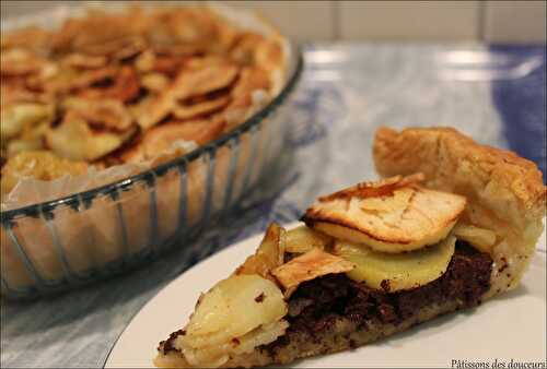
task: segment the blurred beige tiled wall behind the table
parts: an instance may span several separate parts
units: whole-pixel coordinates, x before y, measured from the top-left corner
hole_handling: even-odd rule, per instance
[[[2,0],[1,16],[66,1]],[[229,1],[298,39],[545,43],[546,1]]]

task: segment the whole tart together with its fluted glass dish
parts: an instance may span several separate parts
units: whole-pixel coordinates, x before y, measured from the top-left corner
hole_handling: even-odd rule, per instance
[[[282,181],[302,58],[254,12],[60,5],[5,20],[0,59],[2,296],[148,263]]]

